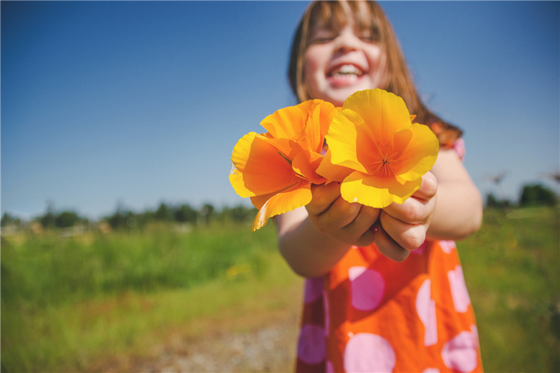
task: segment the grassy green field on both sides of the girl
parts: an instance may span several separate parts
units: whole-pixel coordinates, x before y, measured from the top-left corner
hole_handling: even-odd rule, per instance
[[[559,232],[558,209],[486,211],[458,243],[487,372],[560,371]],[[269,224],[2,237],[1,371],[134,371],[224,333],[287,322],[292,336],[301,279],[275,236]],[[284,354],[295,349],[287,340]],[[292,366],[291,356],[260,359],[274,363],[243,369]]]

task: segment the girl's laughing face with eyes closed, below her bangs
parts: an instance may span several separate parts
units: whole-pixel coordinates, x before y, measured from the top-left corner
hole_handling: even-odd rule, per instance
[[[304,85],[311,99],[342,106],[358,90],[385,88],[386,56],[369,30],[353,22],[339,31],[314,27],[304,55]]]

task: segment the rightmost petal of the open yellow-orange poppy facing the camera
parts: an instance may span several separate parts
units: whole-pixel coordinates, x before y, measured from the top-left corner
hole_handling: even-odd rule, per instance
[[[430,171],[437,160],[440,143],[428,126],[416,123],[395,132],[395,143],[398,143],[400,136],[409,137],[407,132],[412,133],[412,136],[400,154],[397,174],[401,178],[411,181],[421,178],[423,174]]]

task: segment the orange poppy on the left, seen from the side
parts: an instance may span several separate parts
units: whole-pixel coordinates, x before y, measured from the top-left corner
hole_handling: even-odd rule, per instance
[[[230,182],[237,194],[251,197],[259,209],[253,230],[271,216],[311,202],[311,183],[326,181],[316,169],[328,126],[338,111],[322,100],[305,101],[262,120],[266,134],[250,132],[237,142]]]

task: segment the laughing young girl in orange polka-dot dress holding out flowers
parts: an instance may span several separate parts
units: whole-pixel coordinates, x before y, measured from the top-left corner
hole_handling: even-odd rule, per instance
[[[307,278],[296,370],[482,371],[454,243],[479,228],[482,199],[461,162],[461,130],[422,104],[381,8],[311,3],[288,75],[299,101],[342,106],[358,90],[393,92],[440,140],[433,169],[403,204],[350,204],[329,183],[314,186],[307,206],[276,218],[281,254]]]

